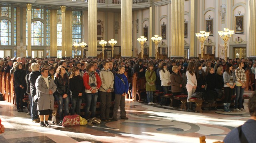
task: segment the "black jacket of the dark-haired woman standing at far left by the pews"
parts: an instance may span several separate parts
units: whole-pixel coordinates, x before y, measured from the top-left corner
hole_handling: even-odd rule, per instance
[[[23,69],[16,69],[13,73],[14,75],[14,86],[18,87],[20,85],[22,85],[23,87],[26,88],[27,84],[26,84],[26,71],[24,71]]]

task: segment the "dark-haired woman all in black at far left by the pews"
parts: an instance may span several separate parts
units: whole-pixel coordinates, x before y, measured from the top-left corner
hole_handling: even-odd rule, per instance
[[[22,63],[18,63],[15,67],[14,75],[14,90],[16,93],[16,105],[18,112],[23,112],[23,97],[26,92],[26,71],[23,70]]]

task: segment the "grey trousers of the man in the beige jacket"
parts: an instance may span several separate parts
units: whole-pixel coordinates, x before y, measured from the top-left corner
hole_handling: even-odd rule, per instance
[[[102,119],[109,119],[111,95],[111,92],[100,91],[100,116]]]

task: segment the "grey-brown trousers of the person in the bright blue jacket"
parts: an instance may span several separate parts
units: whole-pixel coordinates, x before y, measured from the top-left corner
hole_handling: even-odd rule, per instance
[[[113,109],[113,118],[117,118],[117,110],[120,105],[120,111],[121,111],[121,116],[120,117],[126,117],[126,112],[125,112],[125,96],[122,96],[121,94],[116,94],[115,96],[115,104],[114,104],[114,109]]]

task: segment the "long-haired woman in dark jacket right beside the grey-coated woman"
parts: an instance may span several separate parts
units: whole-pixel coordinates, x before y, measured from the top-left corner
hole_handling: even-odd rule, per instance
[[[60,123],[63,121],[63,104],[64,104],[64,116],[68,115],[68,104],[70,100],[69,91],[69,78],[66,74],[64,66],[59,66],[54,76],[54,83],[57,86],[55,92],[55,98],[58,102],[58,113],[60,114]]]

